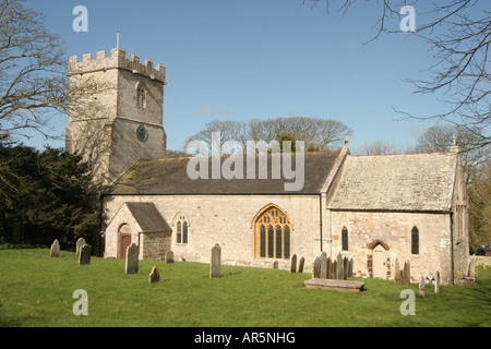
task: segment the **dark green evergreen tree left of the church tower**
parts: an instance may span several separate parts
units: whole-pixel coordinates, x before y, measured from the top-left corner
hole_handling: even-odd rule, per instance
[[[27,238],[93,237],[98,210],[86,195],[91,182],[81,157],[47,147],[43,152],[15,144],[0,145],[0,236],[23,227]]]

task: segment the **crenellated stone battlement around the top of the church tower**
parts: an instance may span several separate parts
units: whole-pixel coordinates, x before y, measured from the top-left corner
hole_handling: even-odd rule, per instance
[[[106,51],[98,51],[96,59],[92,59],[92,53],[86,53],[79,61],[76,56],[69,59],[69,76],[97,71],[107,71],[109,69],[124,69],[133,74],[141,74],[166,84],[166,68],[158,63],[154,69],[154,62],[145,59],[145,64],[140,61],[140,56],[132,53],[131,59],[127,59],[127,51],[120,48],[113,48],[110,57],[106,57]]]

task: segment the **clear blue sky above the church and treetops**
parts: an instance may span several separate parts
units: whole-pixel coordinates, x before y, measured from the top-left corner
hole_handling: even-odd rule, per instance
[[[381,2],[381,1],[380,1]],[[414,145],[433,122],[397,121],[393,108],[428,116],[446,110],[438,96],[414,95],[403,79],[424,79],[434,63],[428,44],[408,33],[373,28],[381,4],[364,1],[342,15],[306,0],[34,0],[70,56],[120,47],[167,69],[164,127],[168,148],[211,120],[306,116],[339,120],[354,130],[351,149],[384,140]],[[338,5],[338,2],[334,3]],[[88,10],[88,32],[76,33],[75,5]],[[418,8],[416,19],[418,20]],[[418,23],[418,21],[417,21]],[[387,23],[392,29],[399,20]],[[63,134],[68,117],[53,118]],[[270,141],[270,140],[265,140]],[[64,146],[38,137],[26,144]]]

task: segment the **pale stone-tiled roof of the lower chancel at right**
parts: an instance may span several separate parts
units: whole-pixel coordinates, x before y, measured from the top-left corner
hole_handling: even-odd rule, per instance
[[[332,209],[448,212],[456,153],[349,156]]]

